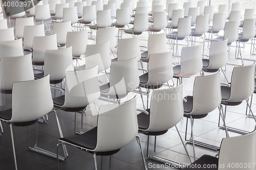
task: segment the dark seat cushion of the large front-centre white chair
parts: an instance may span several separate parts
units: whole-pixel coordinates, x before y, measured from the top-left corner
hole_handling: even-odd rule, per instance
[[[77,145],[78,147],[93,150],[96,148],[97,144],[97,127],[91,129],[90,131],[81,134],[81,135],[75,135],[72,137],[63,137],[59,140],[65,141],[74,145]]]

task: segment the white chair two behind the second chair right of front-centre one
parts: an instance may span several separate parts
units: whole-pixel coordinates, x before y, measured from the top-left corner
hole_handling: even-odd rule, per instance
[[[185,18],[179,18],[178,20],[178,27],[177,31],[174,31],[170,34],[166,34],[167,39],[173,39],[176,40],[176,55],[179,55],[178,50],[178,40],[183,40],[187,36],[191,34],[191,17],[185,17]],[[175,45],[175,42],[174,42]],[[174,55],[174,49],[173,49],[173,55]]]

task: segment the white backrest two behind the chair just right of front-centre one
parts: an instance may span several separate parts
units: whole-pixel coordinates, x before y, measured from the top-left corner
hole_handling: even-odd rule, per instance
[[[150,34],[147,40],[147,58],[151,54],[167,52],[166,33]]]

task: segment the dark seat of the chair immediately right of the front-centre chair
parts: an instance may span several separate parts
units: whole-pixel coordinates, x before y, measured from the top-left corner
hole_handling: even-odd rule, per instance
[[[141,133],[146,132],[144,134],[150,135],[150,136],[158,136],[158,135],[165,134],[168,130],[156,131],[156,132],[143,131],[143,130],[146,130],[150,126],[150,109],[146,109],[146,111],[148,112],[148,114],[141,112],[137,115],[139,132],[141,132]]]

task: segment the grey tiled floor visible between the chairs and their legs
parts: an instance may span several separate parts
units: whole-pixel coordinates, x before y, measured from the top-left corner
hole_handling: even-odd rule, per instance
[[[144,32],[140,35],[140,45],[147,45],[147,32]],[[95,36],[95,32],[93,33]],[[131,35],[123,34],[123,38],[129,38]],[[197,44],[201,43],[202,39],[197,39]],[[89,43],[95,43],[93,40],[89,40]],[[181,51],[181,47],[185,46],[185,41],[179,41],[179,51]],[[229,63],[241,63],[240,59],[234,59],[234,53],[236,51],[236,46],[231,46],[231,51],[228,52],[229,56]],[[145,48],[141,48],[141,51],[145,51]],[[114,49],[114,53],[117,50]],[[242,55],[246,59],[255,60],[255,55],[250,55],[250,44],[246,43],[245,48],[242,48]],[[113,57],[113,55],[111,55]],[[176,61],[177,58],[174,58]],[[84,62],[84,61],[82,61]],[[82,63],[81,62],[81,63]],[[245,61],[245,64],[250,64],[252,61]],[[144,65],[146,67],[146,65]],[[231,72],[233,66],[227,65],[226,66],[226,75],[230,81]],[[142,72],[140,72],[142,74]],[[207,75],[207,73],[206,73]],[[199,76],[197,74],[196,76]],[[184,88],[183,88],[183,96],[188,94],[192,94],[193,92],[193,82],[196,76],[191,78],[185,78],[184,81]],[[224,76],[221,75],[221,81],[225,82]],[[176,83],[176,80],[174,80]],[[172,82],[170,81],[170,84]],[[166,88],[166,87],[163,87]],[[54,91],[52,91],[54,93]],[[59,95],[59,93],[57,93]],[[130,93],[125,99],[121,101],[129,100],[134,95],[137,95],[137,108],[142,109],[142,102],[140,96],[137,93]],[[146,101],[146,96],[144,96],[144,101]],[[11,96],[7,94],[1,94],[0,98],[1,106],[10,105],[11,103]],[[99,107],[100,105],[108,104],[106,101],[97,100],[96,105]],[[246,129],[249,131],[254,130],[255,122],[252,118],[248,118],[245,115],[245,108],[246,103],[243,102],[239,106],[235,107],[228,107],[227,116],[226,116],[226,123],[229,126],[238,127],[241,129]],[[252,110],[253,112],[256,111],[256,98],[252,100]],[[74,128],[79,130],[80,122],[81,122],[81,113],[77,113],[77,126],[74,127],[74,113],[72,112],[65,112],[62,110],[57,110],[57,115],[60,121],[60,126],[63,132],[63,136],[73,136]],[[91,105],[87,108],[86,112],[83,116],[83,131],[88,131],[96,126],[97,124],[97,112],[94,105]],[[196,119],[194,124],[194,133],[195,139],[200,141],[205,141],[210,144],[220,145],[220,142],[223,137],[225,137],[225,131],[218,128],[218,118],[219,118],[219,111],[218,109],[210,112],[208,116],[202,119]],[[185,125],[186,125],[186,118],[182,118],[181,122],[177,125],[181,136],[184,140],[185,136]],[[4,127],[4,134],[0,136],[0,169],[1,170],[12,170],[15,169],[14,167],[14,159],[13,159],[13,152],[12,152],[12,144],[11,144],[11,135],[10,135],[10,128],[8,124],[3,123]],[[188,127],[190,124],[188,123]],[[29,127],[30,131],[30,146],[35,144],[35,125]],[[190,128],[188,128],[188,132],[190,132]],[[52,170],[56,169],[56,159],[33,152],[28,149],[27,147],[27,127],[14,127],[14,142],[15,142],[15,149],[16,149],[16,157],[17,157],[17,164],[18,169],[45,169],[45,170]],[[239,134],[229,132],[230,136],[238,136]],[[146,136],[143,134],[139,134],[142,140],[142,147],[143,152],[146,154]],[[49,114],[49,122],[45,124],[38,123],[38,147],[47,149],[51,152],[56,153],[56,144],[58,143],[59,133],[56,124],[56,119],[54,113]],[[153,142],[154,138],[150,138],[150,151],[149,153],[153,153]],[[193,148],[191,144],[186,143],[186,148],[188,149],[189,155],[191,159],[194,160],[193,156]],[[77,148],[71,147],[67,145],[67,149],[69,152],[69,157],[66,161],[60,161],[60,169],[94,169],[94,162],[93,162],[93,155],[90,153],[86,153],[81,151]],[[182,146],[182,143],[179,139],[178,133],[175,128],[170,129],[166,134],[159,136],[157,138],[157,147],[156,153],[160,156],[166,157],[168,159],[172,159],[181,163],[189,163],[189,159],[185,153],[185,150]],[[62,151],[60,154],[63,155]],[[199,158],[204,154],[209,155],[216,155],[216,151],[208,150],[205,148],[200,148],[196,146],[196,157]],[[156,162],[154,160],[146,158],[148,167],[152,167],[150,169],[165,169],[165,168],[153,168],[153,165],[161,165],[161,163]],[[101,165],[101,157],[97,157],[98,167]],[[109,157],[103,157],[103,169],[108,169],[109,167]],[[122,148],[117,154],[112,156],[112,169],[142,169],[142,159],[138,149],[138,145],[136,140],[133,140],[131,143],[127,144],[124,148]]]

